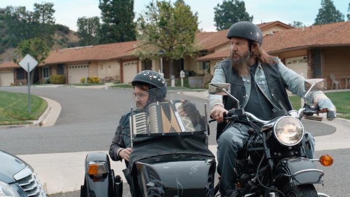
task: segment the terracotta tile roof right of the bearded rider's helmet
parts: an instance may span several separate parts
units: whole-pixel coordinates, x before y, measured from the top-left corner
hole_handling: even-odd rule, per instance
[[[350,21],[282,30],[263,38],[263,48],[270,52],[320,46],[350,45]]]

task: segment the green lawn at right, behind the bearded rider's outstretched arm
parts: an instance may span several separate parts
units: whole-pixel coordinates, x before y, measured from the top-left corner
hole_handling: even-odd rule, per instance
[[[332,100],[337,112],[341,114],[338,117],[350,119],[350,91],[332,92],[326,93],[326,95]],[[294,109],[298,110],[301,107],[300,97],[290,96],[289,99]]]

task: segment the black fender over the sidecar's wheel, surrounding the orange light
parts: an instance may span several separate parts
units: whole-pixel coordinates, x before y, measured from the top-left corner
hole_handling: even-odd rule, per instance
[[[107,174],[102,177],[93,177],[88,175],[89,163],[105,162],[107,167]],[[84,186],[81,187],[82,196],[95,197],[95,196],[114,196],[114,173],[110,168],[109,157],[105,153],[89,153],[85,158],[85,180]]]

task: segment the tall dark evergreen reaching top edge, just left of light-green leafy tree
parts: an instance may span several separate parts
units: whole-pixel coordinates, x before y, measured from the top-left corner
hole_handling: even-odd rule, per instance
[[[100,0],[100,43],[136,40],[133,0]]]

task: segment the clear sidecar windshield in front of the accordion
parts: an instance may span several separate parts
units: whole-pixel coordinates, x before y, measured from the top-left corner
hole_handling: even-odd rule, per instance
[[[137,109],[130,118],[134,137],[205,132],[203,98],[198,91],[180,87],[134,93]]]

